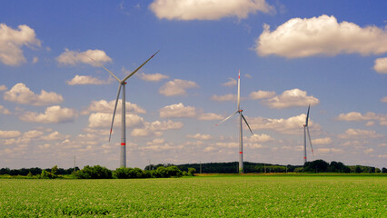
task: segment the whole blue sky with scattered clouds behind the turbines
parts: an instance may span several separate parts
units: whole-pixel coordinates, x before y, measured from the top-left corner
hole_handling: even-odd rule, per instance
[[[308,0],[4,1],[0,168],[303,164],[313,151],[387,167],[387,2]],[[92,57],[94,62],[88,57]],[[236,169],[236,168],[235,168]]]

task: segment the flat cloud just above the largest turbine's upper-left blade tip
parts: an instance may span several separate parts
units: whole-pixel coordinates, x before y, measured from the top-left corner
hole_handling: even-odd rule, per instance
[[[91,60],[90,58],[93,58]],[[65,52],[56,57],[59,64],[75,65],[75,64],[90,64],[100,66],[101,64],[112,62],[112,59],[102,50],[87,50],[85,52],[74,52],[67,48]]]

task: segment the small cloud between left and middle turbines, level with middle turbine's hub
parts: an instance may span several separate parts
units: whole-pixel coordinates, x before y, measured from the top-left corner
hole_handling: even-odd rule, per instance
[[[194,117],[196,109],[183,103],[164,106],[159,110],[161,118]]]

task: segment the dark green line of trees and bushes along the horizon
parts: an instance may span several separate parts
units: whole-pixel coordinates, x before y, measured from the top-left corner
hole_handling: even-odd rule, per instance
[[[271,163],[243,162],[244,173],[387,173],[385,167],[381,169],[373,166],[345,165],[341,162],[332,161],[327,163],[323,160],[306,162],[303,165],[280,165]],[[0,174],[22,175],[30,178],[55,179],[63,178],[64,175],[71,175],[70,178],[77,179],[130,179],[130,178],[168,178],[193,175],[193,173],[238,173],[238,163],[186,163],[186,164],[151,164],[140,168],[117,168],[109,170],[100,165],[86,165],[81,170],[75,168],[53,168],[41,169],[1,168]],[[68,176],[67,176],[68,178]]]

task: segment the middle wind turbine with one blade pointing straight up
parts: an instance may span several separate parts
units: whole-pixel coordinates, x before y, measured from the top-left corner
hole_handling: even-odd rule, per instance
[[[221,121],[222,124],[224,121],[230,119],[234,114],[239,113],[239,173],[243,173],[243,134],[242,134],[242,119],[244,123],[249,127],[250,132],[253,134],[252,128],[250,128],[250,125],[247,123],[246,118],[244,118],[240,108],[240,102],[241,102],[241,71],[238,72],[238,98],[237,98],[237,109],[236,112],[233,114],[227,116],[223,121]],[[216,124],[218,125],[218,124]]]

